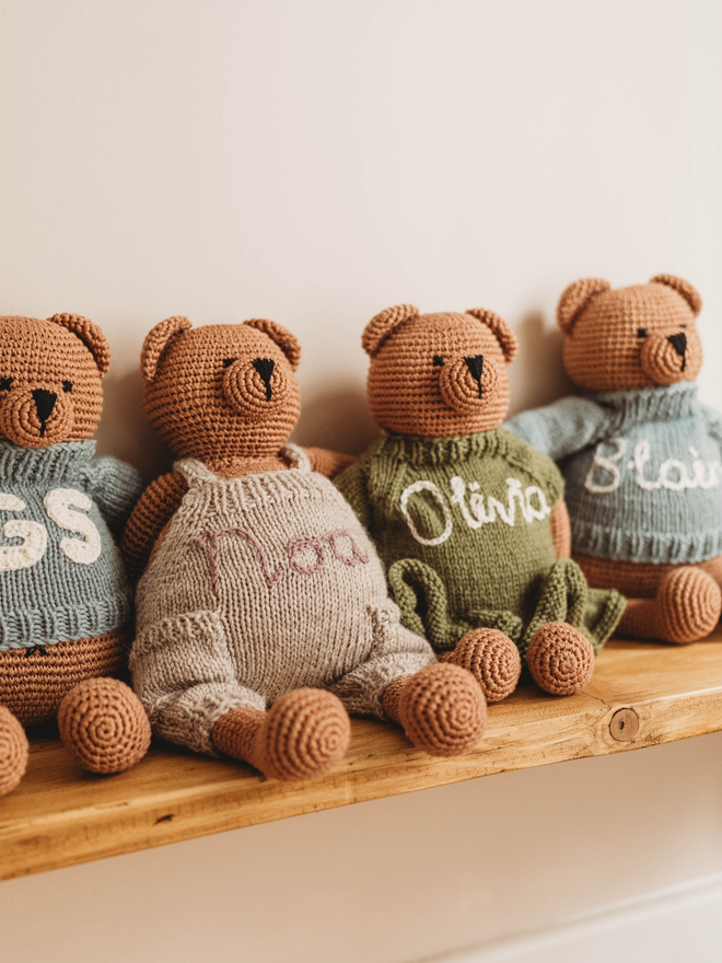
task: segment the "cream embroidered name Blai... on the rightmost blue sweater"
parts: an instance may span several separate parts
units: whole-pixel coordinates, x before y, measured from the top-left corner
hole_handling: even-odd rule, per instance
[[[609,446],[614,448],[612,454],[604,454]],[[638,441],[634,445],[632,457],[625,463],[628,441],[626,438],[608,438],[601,441],[594,452],[594,461],[590,468],[584,487],[593,495],[608,495],[616,491],[621,485],[625,471],[632,474],[637,485],[644,491],[656,491],[666,488],[667,491],[685,491],[688,488],[717,488],[720,484],[720,471],[722,465],[719,459],[703,462],[695,448],[687,450],[691,463],[689,465],[679,459],[666,459],[659,467],[656,477],[650,474],[649,462],[652,460],[651,445],[647,439]]]

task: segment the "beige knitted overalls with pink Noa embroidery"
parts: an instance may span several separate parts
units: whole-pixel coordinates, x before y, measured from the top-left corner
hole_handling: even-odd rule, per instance
[[[350,506],[284,454],[295,467],[231,479],[177,462],[188,491],[138,585],[135,689],[156,734],[199,752],[230,709],[301,686],[384,718],[388,683],[435,661]]]

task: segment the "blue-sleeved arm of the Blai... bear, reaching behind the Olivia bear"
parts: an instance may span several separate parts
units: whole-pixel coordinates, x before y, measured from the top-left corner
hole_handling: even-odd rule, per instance
[[[596,402],[570,397],[523,411],[503,427],[558,462],[606,438],[610,419]]]

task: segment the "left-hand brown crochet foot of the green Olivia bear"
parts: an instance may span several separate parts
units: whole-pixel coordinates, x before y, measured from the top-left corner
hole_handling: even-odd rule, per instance
[[[522,674],[519,649],[497,628],[475,628],[453,652],[441,653],[439,661],[467,669],[481,686],[487,703],[499,703],[510,696]]]

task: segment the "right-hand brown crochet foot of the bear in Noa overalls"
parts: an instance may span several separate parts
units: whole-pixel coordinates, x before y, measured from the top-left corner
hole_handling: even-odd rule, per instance
[[[414,745],[432,756],[474,749],[487,724],[484,693],[461,665],[435,663],[386,688],[384,711]]]

